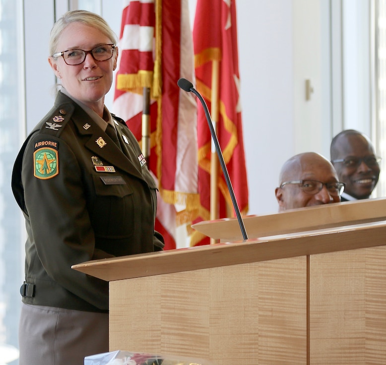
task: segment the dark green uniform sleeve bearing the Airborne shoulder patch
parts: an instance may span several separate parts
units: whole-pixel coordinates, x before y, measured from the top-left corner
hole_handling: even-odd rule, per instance
[[[36,147],[30,140],[22,163],[22,185],[33,243],[47,274],[84,301],[108,307],[108,282],[71,269],[71,265],[112,257],[95,251],[94,233],[86,209],[82,174],[63,140]]]

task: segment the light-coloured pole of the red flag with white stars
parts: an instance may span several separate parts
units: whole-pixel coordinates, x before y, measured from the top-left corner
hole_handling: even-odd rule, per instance
[[[212,61],[212,90],[211,90],[211,107],[210,115],[212,117],[213,129],[217,134],[218,122],[218,75],[219,61]],[[210,220],[219,218],[218,207],[218,156],[213,143],[210,149]],[[217,240],[210,239],[210,244],[217,243]]]

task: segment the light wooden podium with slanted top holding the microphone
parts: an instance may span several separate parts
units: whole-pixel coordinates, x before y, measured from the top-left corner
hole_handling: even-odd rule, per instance
[[[111,351],[385,365],[385,214],[386,200],[373,199],[251,216],[247,242],[73,268],[110,281]],[[235,219],[195,228],[225,241],[239,234]]]

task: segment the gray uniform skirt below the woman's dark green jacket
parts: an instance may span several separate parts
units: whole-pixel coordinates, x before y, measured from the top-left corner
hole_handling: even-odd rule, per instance
[[[19,365],[83,365],[109,351],[109,315],[22,304]]]

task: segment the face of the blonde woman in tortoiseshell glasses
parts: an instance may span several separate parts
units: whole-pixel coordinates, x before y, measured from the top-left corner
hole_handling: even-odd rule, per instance
[[[89,51],[102,44],[114,43],[100,30],[80,22],[68,24],[60,35],[57,52],[71,49]],[[117,66],[118,49],[107,61],[95,61],[91,54],[77,65],[68,65],[63,57],[49,58],[51,67],[61,79],[63,87],[97,114],[103,113],[104,98],[113,82],[113,70]]]

